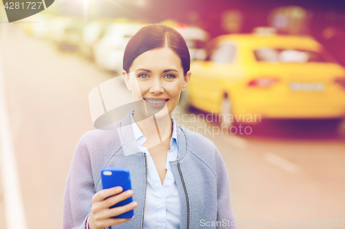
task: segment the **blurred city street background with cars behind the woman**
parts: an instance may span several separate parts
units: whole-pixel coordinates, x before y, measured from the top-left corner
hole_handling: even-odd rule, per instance
[[[88,94],[121,74],[150,23],[186,40],[192,77],[172,115],[217,145],[238,228],[345,228],[343,1],[57,0],[14,23],[0,13],[0,228],[15,228],[8,185],[24,229],[61,228],[75,146],[95,129]]]

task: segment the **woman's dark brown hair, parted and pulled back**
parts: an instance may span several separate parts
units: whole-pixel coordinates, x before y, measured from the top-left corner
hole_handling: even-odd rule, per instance
[[[162,24],[146,25],[132,36],[124,53],[123,67],[126,72],[129,72],[137,56],[160,47],[169,47],[181,58],[181,65],[186,76],[190,69],[190,54],[186,41],[175,29]]]

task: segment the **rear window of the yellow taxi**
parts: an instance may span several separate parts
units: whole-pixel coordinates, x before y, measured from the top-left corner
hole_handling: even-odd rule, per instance
[[[306,62],[336,62],[326,52],[314,52],[311,50],[282,49],[262,47],[254,50],[254,55],[259,62],[274,63],[306,63]]]

